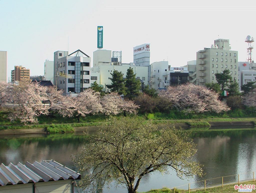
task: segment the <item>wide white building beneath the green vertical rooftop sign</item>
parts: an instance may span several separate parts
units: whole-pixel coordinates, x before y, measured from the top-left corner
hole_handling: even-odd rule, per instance
[[[115,65],[118,64],[118,65]],[[108,90],[106,85],[111,84],[109,78],[114,70],[121,71],[126,76],[127,69],[131,67],[136,77],[141,80],[142,85],[148,84],[148,66],[135,66],[133,63],[112,62],[111,50],[96,50],[93,52],[93,67],[91,68],[91,83],[96,81],[103,88]]]

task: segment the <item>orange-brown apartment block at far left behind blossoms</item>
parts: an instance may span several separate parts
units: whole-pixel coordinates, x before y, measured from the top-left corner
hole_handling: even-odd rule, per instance
[[[23,66],[14,66],[14,70],[11,71],[11,82],[21,81],[23,79],[30,78],[30,70]]]

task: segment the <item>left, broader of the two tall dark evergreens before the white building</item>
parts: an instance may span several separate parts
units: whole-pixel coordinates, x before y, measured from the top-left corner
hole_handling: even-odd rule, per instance
[[[119,72],[117,70],[114,70],[113,73],[110,73],[112,75],[112,78],[109,78],[112,83],[111,85],[106,85],[109,89],[111,89],[111,92],[117,92],[119,95],[124,94],[125,95],[125,87],[124,87],[124,74],[122,72]]]

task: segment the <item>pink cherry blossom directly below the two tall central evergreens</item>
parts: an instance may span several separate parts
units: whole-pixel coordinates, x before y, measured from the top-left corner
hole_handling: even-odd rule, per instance
[[[123,100],[119,94],[111,92],[101,98],[102,111],[105,115],[116,115],[121,112],[136,114],[138,105],[133,101]]]

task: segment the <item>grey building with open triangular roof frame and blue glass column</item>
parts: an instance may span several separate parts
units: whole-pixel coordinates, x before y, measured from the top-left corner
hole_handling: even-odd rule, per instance
[[[80,93],[91,86],[91,57],[77,50],[54,52],[54,85],[67,93]]]

